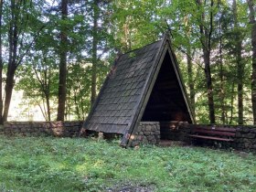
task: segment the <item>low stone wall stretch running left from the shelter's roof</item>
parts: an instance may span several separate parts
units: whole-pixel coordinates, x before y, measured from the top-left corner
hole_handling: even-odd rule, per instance
[[[74,137],[80,133],[82,122],[6,122],[0,126],[5,135]]]

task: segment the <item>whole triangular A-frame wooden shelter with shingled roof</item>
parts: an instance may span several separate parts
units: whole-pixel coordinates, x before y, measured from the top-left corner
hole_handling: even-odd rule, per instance
[[[83,128],[121,133],[126,146],[141,121],[194,123],[168,37],[115,61]]]

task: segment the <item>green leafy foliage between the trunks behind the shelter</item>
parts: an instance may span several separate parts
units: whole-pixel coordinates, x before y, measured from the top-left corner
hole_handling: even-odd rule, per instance
[[[69,52],[66,119],[84,119],[91,109],[93,6],[95,1],[69,1],[69,16],[65,20],[61,19],[59,6],[52,1],[26,0],[22,2],[24,3],[21,4],[17,22],[17,27],[21,32],[17,46],[18,59],[22,58],[21,64],[24,65],[16,73],[16,90],[24,91],[25,100],[32,106],[38,103],[46,104],[44,89],[36,77],[36,72],[41,78],[47,71],[48,75],[43,79],[50,82],[49,108],[50,116],[54,119],[57,109],[59,50],[64,48]],[[241,63],[244,70],[242,78],[244,83],[243,122],[250,124],[251,35],[247,19],[247,4],[245,1],[236,1],[238,25],[235,27],[232,1],[214,0],[213,7],[210,6],[210,1],[202,2],[205,5],[198,6],[197,1],[191,0],[98,1],[99,19],[97,36],[95,36],[98,42],[96,51],[97,91],[100,90],[110,69],[110,64],[114,60],[113,55],[152,43],[168,32],[171,35],[172,47],[181,63],[180,68],[186,82],[187,92],[191,92],[189,90],[191,81],[195,87],[197,123],[208,123],[207,86],[201,47],[201,40],[204,39],[200,36],[198,26],[201,24],[202,13],[205,13],[203,25],[208,27],[212,12],[210,68],[217,123],[223,123],[221,120],[223,113],[225,114],[224,123],[238,123],[237,84],[240,80],[237,75],[236,53],[237,42],[241,40]],[[4,1],[4,22],[1,28],[4,68],[8,62],[7,34],[11,22],[10,16],[10,2]],[[65,31],[68,37],[65,46],[59,43],[60,29]],[[222,46],[220,46],[220,40]],[[187,56],[192,62],[191,74],[187,72]],[[52,69],[50,73],[48,69]]]

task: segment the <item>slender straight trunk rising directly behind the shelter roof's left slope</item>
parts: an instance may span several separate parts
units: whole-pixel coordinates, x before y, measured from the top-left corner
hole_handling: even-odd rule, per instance
[[[96,100],[97,83],[97,45],[98,45],[98,20],[99,6],[98,0],[93,2],[93,28],[92,28],[92,72],[91,72],[91,106]]]

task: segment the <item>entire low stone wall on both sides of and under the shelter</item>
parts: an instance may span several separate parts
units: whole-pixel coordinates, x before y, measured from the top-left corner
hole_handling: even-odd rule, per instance
[[[0,134],[25,136],[59,136],[77,137],[80,135],[80,128],[83,122],[7,122],[0,125]],[[216,145],[222,148],[233,148],[240,151],[256,152],[256,126],[249,125],[216,125],[216,127],[235,128],[236,136],[233,142],[218,142],[205,139],[194,140],[189,137],[191,130],[197,124],[181,122],[141,122],[136,133],[133,133],[130,146],[139,144],[159,144],[163,140],[182,141],[187,144]],[[209,126],[211,125],[204,125]],[[160,128],[161,127],[161,128]],[[105,138],[114,135],[113,138],[120,138],[122,135],[104,133]]]

